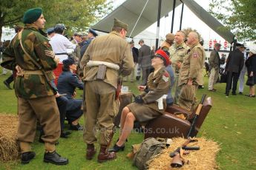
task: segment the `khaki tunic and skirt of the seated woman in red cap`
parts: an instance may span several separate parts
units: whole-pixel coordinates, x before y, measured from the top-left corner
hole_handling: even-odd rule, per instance
[[[142,94],[144,103],[131,103],[127,106],[136,120],[145,122],[163,115],[166,109],[166,100],[163,100],[163,109],[158,109],[157,99],[167,95],[170,81],[170,75],[165,71],[165,67],[161,68],[155,75],[154,72],[151,72],[147,83],[150,92]]]

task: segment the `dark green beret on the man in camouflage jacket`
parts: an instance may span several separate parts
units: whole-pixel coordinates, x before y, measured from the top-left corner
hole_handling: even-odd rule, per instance
[[[42,15],[42,8],[32,8],[27,10],[23,16],[23,23],[24,24],[32,24]]]

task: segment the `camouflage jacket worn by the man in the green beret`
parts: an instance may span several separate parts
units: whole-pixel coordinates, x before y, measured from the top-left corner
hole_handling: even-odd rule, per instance
[[[42,30],[36,30],[35,27],[27,24],[22,31],[22,44],[24,50],[33,58],[47,73],[50,80],[53,79],[53,69],[57,67],[54,61],[54,54],[49,44],[49,40]],[[10,43],[10,46],[3,53],[3,61],[1,66],[14,70],[19,65],[25,73],[18,76],[15,81],[16,95],[20,98],[42,98],[54,95],[53,90],[47,84],[45,75],[36,73],[39,68],[30,60],[22,50],[19,34],[17,34]]]

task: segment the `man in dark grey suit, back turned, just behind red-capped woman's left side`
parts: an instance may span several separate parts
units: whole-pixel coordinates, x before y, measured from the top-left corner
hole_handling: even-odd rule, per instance
[[[148,81],[148,75],[151,70],[151,49],[149,46],[144,44],[144,40],[139,41],[140,49],[139,49],[139,58],[138,63],[142,68],[142,86],[145,86]]]

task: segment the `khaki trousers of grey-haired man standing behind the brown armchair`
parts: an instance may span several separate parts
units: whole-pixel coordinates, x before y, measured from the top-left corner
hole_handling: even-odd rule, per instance
[[[198,85],[183,84],[180,90],[179,105],[180,107],[187,109],[188,111],[194,110],[197,105],[196,91]]]

